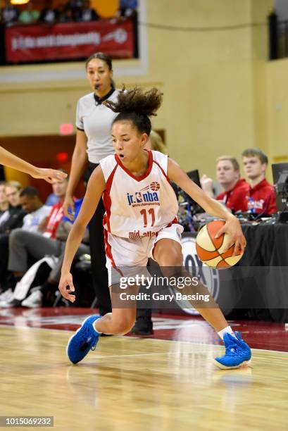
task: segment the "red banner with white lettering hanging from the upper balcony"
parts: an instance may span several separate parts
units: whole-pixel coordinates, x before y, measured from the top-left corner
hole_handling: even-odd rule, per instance
[[[96,51],[113,58],[131,58],[134,51],[132,21],[21,25],[6,29],[8,63],[76,60]]]

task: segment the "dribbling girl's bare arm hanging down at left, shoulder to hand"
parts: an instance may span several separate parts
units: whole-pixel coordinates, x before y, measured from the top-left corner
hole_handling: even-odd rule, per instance
[[[75,301],[75,295],[73,293],[71,294],[71,292],[75,291],[75,288],[73,286],[70,268],[76,251],[80,245],[80,242],[82,241],[85,229],[91,220],[97,205],[99,204],[99,200],[101,199],[105,187],[106,184],[101,166],[97,166],[89,179],[84,201],[80,208],[79,214],[77,215],[75,223],[70,230],[70,234],[68,235],[65,246],[59,290],[64,298],[69,299],[71,302]],[[66,289],[67,286],[69,286],[69,289]]]

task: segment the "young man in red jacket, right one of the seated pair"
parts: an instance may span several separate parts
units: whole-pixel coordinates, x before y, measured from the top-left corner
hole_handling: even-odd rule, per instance
[[[277,211],[275,191],[265,179],[268,157],[260,149],[243,151],[242,161],[249,187],[246,193],[245,211],[258,214],[273,214]]]

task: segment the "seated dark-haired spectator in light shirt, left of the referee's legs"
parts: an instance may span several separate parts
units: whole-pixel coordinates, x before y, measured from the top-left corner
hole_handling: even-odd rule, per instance
[[[27,213],[23,218],[23,230],[37,232],[39,224],[48,217],[51,207],[43,205],[39,198],[39,192],[36,187],[25,187],[20,192],[20,205],[23,211]]]

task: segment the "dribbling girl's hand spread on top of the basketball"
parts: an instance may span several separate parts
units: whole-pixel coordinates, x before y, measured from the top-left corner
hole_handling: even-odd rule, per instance
[[[240,226],[239,220],[237,220],[234,215],[230,215],[226,220],[226,223],[215,235],[216,238],[220,237],[222,234],[229,234],[230,242],[225,247],[223,253],[230,249],[232,245],[234,245],[234,251],[232,256],[236,256],[236,254],[243,254],[246,247],[246,239],[242,232],[242,227]]]

